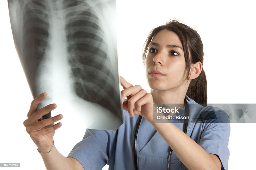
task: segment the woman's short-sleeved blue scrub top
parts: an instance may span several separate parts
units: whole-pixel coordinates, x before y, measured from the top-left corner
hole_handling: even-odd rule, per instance
[[[219,156],[222,168],[228,170],[228,140],[230,136],[229,117],[226,112],[210,106],[203,107],[186,96],[188,108],[183,108],[180,115],[188,111],[189,117],[199,122],[188,122],[187,135],[197,142],[206,152]],[[201,120],[200,114],[215,113],[214,119]],[[102,169],[106,164],[110,170],[134,169],[133,138],[139,116],[129,117],[123,110],[124,124],[118,130],[87,129],[83,140],[77,143],[68,157],[78,160],[85,170]],[[178,113],[177,113],[178,114]],[[183,130],[184,123],[170,120]],[[181,148],[182,149],[182,146]],[[169,146],[156,129],[142,117],[137,135],[138,169],[157,170],[168,167]],[[187,169],[173,152],[170,169]]]

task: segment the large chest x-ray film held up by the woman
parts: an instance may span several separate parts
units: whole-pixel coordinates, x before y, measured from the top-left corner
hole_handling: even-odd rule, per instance
[[[70,112],[89,128],[116,130],[120,100],[115,0],[8,0],[17,54],[38,109]],[[61,109],[59,109],[61,108]],[[58,112],[62,111],[62,112]]]

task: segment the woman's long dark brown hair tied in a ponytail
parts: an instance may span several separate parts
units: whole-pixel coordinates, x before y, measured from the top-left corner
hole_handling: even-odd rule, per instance
[[[156,35],[159,31],[164,29],[175,32],[179,36],[183,44],[184,56],[186,61],[187,79],[189,77],[191,69],[190,66],[192,63],[195,64],[196,62],[200,61],[203,64],[203,44],[196,30],[176,20],[171,20],[167,22],[165,25],[161,25],[150,32],[144,44],[144,66],[148,47],[154,35]],[[202,69],[202,72],[196,79],[191,80],[186,95],[191,99],[195,100],[197,103],[207,103],[207,81],[204,69]]]

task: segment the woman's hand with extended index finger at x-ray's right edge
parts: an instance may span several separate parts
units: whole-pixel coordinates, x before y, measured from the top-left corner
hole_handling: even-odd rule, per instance
[[[121,86],[123,86],[122,103],[123,109],[128,111],[130,117],[133,115],[141,115],[145,119],[153,117],[153,97],[146,90],[142,89],[140,85],[133,86],[120,76]],[[124,101],[124,98],[127,100]]]

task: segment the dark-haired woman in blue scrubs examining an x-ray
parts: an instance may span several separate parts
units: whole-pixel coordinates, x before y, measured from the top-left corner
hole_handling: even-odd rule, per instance
[[[207,103],[206,77],[202,69],[203,45],[198,33],[174,20],[157,27],[146,40],[143,59],[151,93],[120,77],[124,88],[125,123],[116,131],[87,129],[83,140],[73,148],[68,158],[61,155],[52,142],[61,123],[44,128],[62,119],[62,115],[37,121],[54,110],[56,104],[36,111],[37,105],[46,97],[45,93],[32,101],[24,125],[47,169],[102,169],[109,164],[109,169],[134,169],[135,166],[138,169],[227,170],[228,116],[218,108],[197,104]],[[198,120],[197,115],[204,113],[208,120],[202,120],[202,123],[190,121],[187,126],[186,123],[171,123],[172,120],[155,123],[153,103],[192,104],[179,112],[187,111],[193,120]],[[209,118],[212,113],[215,119]],[[134,152],[137,122],[140,126]],[[185,133],[181,129],[185,129]]]

